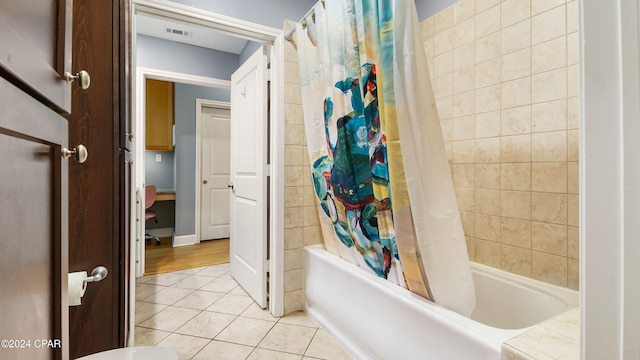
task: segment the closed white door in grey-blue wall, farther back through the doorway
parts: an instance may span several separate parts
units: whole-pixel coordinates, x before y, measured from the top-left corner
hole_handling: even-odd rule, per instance
[[[200,239],[229,237],[230,114],[202,107],[200,117]]]

